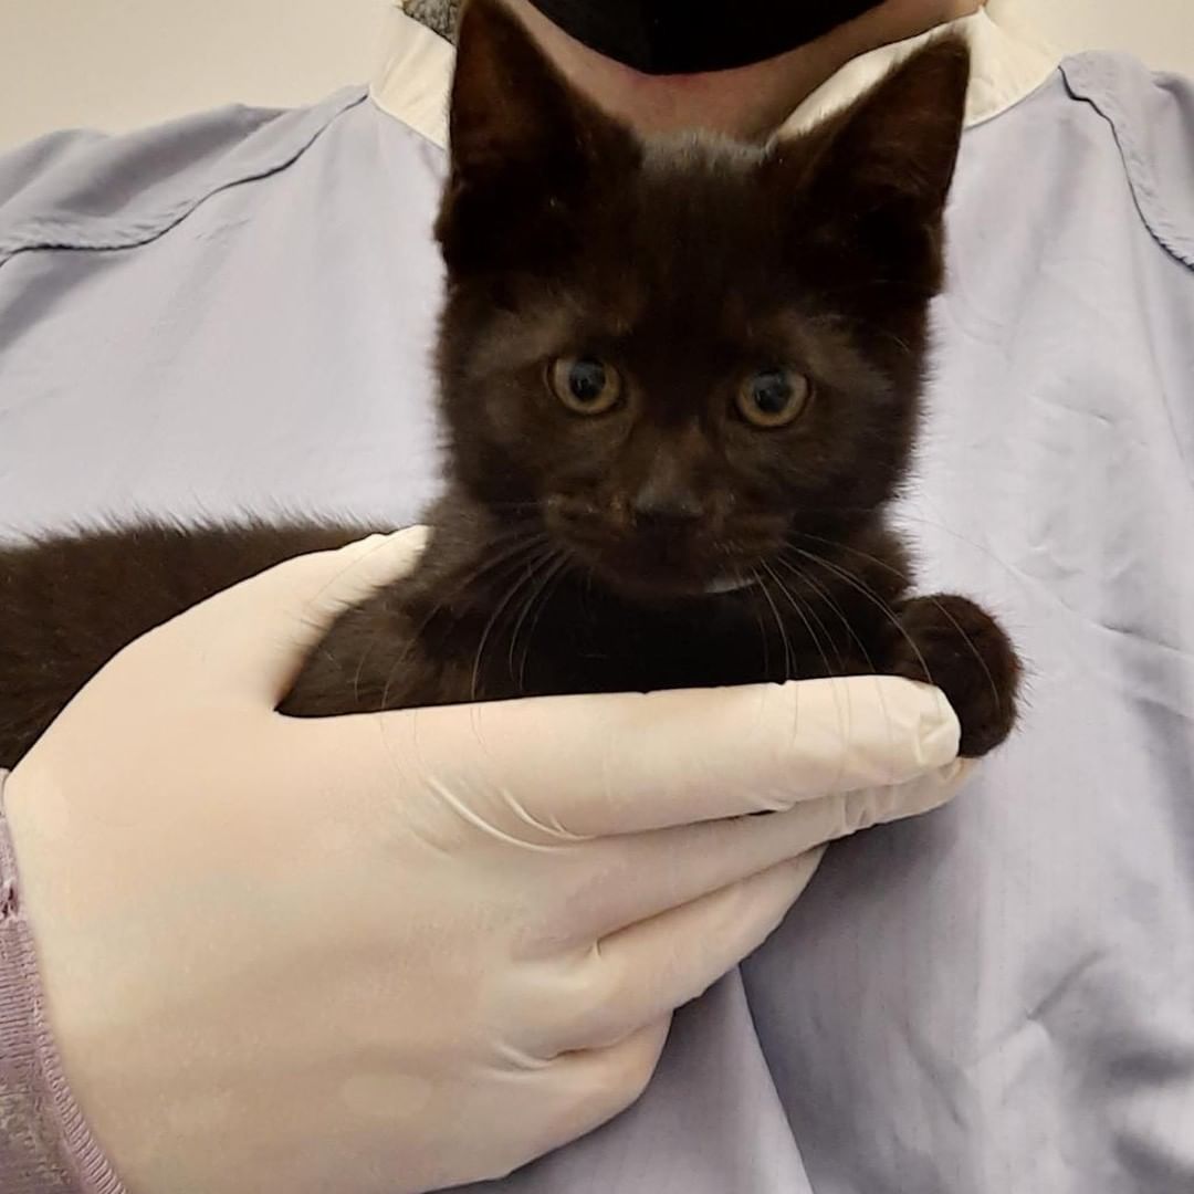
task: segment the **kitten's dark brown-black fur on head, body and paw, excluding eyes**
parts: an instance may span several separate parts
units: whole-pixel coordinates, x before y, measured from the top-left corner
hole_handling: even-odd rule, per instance
[[[1010,644],[962,597],[910,596],[885,516],[967,74],[947,39],[804,137],[642,144],[474,0],[437,226],[449,491],[417,573],[340,618],[284,712],[878,671],[941,685],[964,753],[1002,741]],[[624,378],[608,414],[544,381],[579,353]],[[764,431],[733,395],[774,363],[813,392]],[[144,630],[364,530],[140,527],[0,552],[0,764]],[[707,591],[727,576],[752,583]]]

